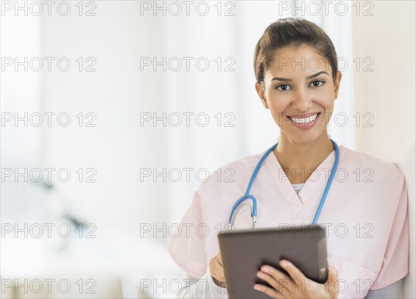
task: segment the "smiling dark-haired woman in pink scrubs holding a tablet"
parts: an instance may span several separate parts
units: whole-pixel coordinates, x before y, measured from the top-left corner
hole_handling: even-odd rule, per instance
[[[263,161],[250,192],[258,203],[257,228],[310,224],[335,161],[327,124],[342,77],[336,51],[315,24],[279,19],[257,43],[254,70],[259,98],[280,128],[278,145]],[[217,233],[263,153],[224,166],[222,178],[234,169],[234,182],[211,176],[196,191],[182,232],[168,243],[185,271],[177,298],[227,298]],[[237,229],[250,228],[250,200],[233,219]],[[399,298],[408,273],[409,236],[406,182],[395,164],[339,146],[338,169],[318,224],[327,228],[325,286],[294,288],[308,280],[290,261],[282,261],[290,278],[265,265],[257,275],[272,287],[253,288],[265,298]],[[293,282],[290,287],[279,284],[285,278]]]

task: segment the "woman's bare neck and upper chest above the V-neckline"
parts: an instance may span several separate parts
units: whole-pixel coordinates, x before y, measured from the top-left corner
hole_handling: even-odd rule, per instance
[[[333,151],[327,134],[307,144],[299,144],[281,135],[275,155],[291,184],[306,182],[316,167]]]

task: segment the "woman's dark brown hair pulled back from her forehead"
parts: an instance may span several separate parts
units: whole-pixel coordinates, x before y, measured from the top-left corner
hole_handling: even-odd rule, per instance
[[[332,78],[335,80],[338,62],[335,48],[327,33],[306,19],[288,17],[270,24],[257,42],[254,53],[254,73],[257,82],[263,83],[264,74],[270,67],[277,50],[287,46],[296,49],[302,45],[313,47],[317,53],[327,59],[332,68]]]

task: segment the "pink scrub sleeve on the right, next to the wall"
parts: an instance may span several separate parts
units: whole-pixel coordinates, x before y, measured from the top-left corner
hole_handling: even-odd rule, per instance
[[[401,171],[400,171],[401,173]],[[395,219],[392,223],[388,244],[385,248],[383,264],[379,274],[372,284],[371,290],[388,286],[408,273],[409,258],[409,224],[408,224],[408,194],[406,180],[401,173],[401,191]]]

